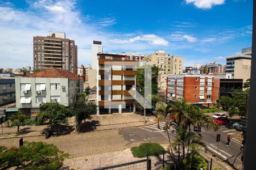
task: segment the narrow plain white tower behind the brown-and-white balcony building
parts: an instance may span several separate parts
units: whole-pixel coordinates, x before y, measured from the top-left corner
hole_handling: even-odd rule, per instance
[[[98,66],[98,56],[97,54],[102,54],[102,44],[101,41],[94,41],[93,40],[93,45],[92,45],[92,69],[97,70]]]

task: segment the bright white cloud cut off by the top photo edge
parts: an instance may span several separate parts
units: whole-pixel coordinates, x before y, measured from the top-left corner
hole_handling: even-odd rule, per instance
[[[225,0],[185,0],[186,3],[193,3],[197,8],[209,9],[214,5],[222,5],[225,3]]]

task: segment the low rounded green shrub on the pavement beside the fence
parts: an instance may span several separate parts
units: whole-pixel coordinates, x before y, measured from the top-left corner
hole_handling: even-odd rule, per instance
[[[159,143],[142,143],[139,147],[132,147],[131,152],[134,157],[145,158],[148,156],[158,156],[163,154],[164,148]]]

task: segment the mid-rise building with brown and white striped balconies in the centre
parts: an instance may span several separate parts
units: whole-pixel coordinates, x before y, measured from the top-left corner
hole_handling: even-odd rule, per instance
[[[135,112],[137,61],[130,56],[98,54],[97,114]]]

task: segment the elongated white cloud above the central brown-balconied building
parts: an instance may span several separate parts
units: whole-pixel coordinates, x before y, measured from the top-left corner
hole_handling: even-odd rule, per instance
[[[168,41],[164,40],[163,38],[156,36],[154,34],[147,34],[142,36],[133,37],[129,40],[120,40],[120,39],[113,39],[112,42],[119,43],[119,44],[126,44],[135,41],[147,41],[152,45],[168,45]]]

